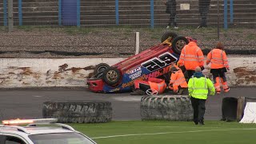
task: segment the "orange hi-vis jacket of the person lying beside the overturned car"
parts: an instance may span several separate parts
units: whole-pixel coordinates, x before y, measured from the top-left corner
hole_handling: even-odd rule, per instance
[[[158,94],[162,94],[166,90],[166,82],[160,78],[149,78],[150,89],[158,91]]]

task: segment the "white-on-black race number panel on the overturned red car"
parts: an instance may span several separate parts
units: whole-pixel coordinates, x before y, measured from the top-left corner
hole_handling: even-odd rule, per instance
[[[143,62],[142,66],[145,67],[147,70],[154,71],[164,66],[168,66],[171,62],[175,61],[177,61],[177,58],[175,58],[173,54],[166,52],[159,55],[158,58],[151,58],[150,60]]]

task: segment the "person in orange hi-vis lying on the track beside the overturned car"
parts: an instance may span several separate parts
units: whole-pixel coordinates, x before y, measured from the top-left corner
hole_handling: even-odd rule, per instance
[[[161,78],[148,78],[148,81],[135,80],[135,90],[131,92],[132,95],[146,94],[146,90],[157,90],[158,94],[162,94],[166,90],[166,82]],[[154,92],[154,91],[152,91]]]

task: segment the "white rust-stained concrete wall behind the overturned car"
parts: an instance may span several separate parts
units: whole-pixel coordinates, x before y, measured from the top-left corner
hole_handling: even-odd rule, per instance
[[[86,86],[94,66],[124,58],[1,58],[0,88]],[[230,56],[230,86],[256,86],[256,58]],[[207,67],[207,66],[206,66]],[[209,70],[204,74],[210,77]]]

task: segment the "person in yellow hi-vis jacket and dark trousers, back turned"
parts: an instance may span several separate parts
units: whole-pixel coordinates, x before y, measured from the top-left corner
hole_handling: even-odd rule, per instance
[[[196,67],[194,75],[189,80],[188,90],[194,110],[194,124],[204,125],[208,90],[210,90],[210,95],[214,95],[214,84],[202,74],[200,67]]]

